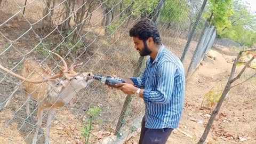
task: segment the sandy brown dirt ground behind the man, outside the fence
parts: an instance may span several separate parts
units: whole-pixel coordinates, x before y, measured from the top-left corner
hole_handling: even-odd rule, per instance
[[[215,107],[215,105],[213,107],[203,105],[204,107],[201,108],[204,94],[213,86],[218,87],[216,91],[223,90],[236,52],[225,47],[215,47],[210,50],[209,55],[214,55],[215,60],[205,58],[186,84],[185,108],[179,130],[193,138],[189,138],[179,130],[174,130],[167,143],[196,143],[203,134],[211,110]],[[239,69],[241,68],[238,67]],[[252,70],[247,70],[240,81],[251,72]],[[256,143],[255,80],[254,78],[230,90],[207,137],[208,144]],[[194,119],[202,123],[195,122]],[[131,138],[127,143],[137,143],[138,139],[139,135]]]

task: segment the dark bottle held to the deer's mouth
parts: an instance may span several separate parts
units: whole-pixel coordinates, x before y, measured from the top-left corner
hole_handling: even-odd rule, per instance
[[[113,77],[113,76],[101,76],[101,75],[93,75],[93,78],[110,86],[110,87],[118,87],[116,84],[125,83],[122,78]]]

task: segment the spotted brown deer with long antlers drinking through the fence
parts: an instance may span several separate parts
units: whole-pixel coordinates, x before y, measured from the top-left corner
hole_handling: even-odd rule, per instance
[[[47,122],[46,122],[46,136],[45,143],[50,143],[50,126],[53,119],[53,115],[57,108],[65,106],[77,92],[87,87],[93,81],[93,74],[90,73],[76,73],[74,68],[82,65],[79,63],[68,68],[66,61],[57,53],[50,51],[57,55],[63,63],[60,66],[58,74],[52,73],[49,66],[44,64],[42,61],[35,57],[30,57],[23,62],[21,75],[18,75],[11,70],[0,65],[0,68],[14,77],[17,77],[22,81],[22,85],[25,87],[25,105],[26,105],[26,116],[30,116],[29,110],[29,98],[33,97],[38,101],[37,109],[37,126],[36,132],[32,143],[36,144],[38,130],[42,126],[42,118],[44,110],[48,110]],[[62,79],[60,79],[60,77]],[[14,92],[17,91],[18,87],[15,88]],[[14,93],[13,92],[13,93]],[[10,95],[4,107],[7,107],[13,96]]]

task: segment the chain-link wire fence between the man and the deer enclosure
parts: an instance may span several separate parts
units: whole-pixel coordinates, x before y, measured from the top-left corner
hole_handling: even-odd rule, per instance
[[[213,44],[215,29],[201,17],[205,2],[191,0],[27,0],[0,1],[1,65],[20,74],[22,63],[35,56],[58,71],[60,60],[44,49],[60,54],[69,66],[84,62],[77,71],[131,77],[143,69],[143,58],[133,48],[129,30],[141,18],[155,21],[164,45],[183,57],[187,74],[193,73]],[[183,56],[182,56],[183,55]],[[139,59],[140,58],[140,59]],[[26,118],[21,81],[0,70],[0,140],[3,143],[31,143],[36,129],[38,101],[30,98],[30,118]],[[14,87],[19,89],[12,94]],[[3,107],[14,95],[10,106]],[[90,114],[94,106],[100,121],[91,125],[91,143],[134,129],[134,121],[143,115],[144,105],[106,85],[92,82],[86,89],[54,114],[51,143],[85,142]],[[123,109],[121,109],[123,108]],[[95,112],[95,111],[94,111]],[[119,116],[121,115],[121,116]],[[46,126],[43,116],[43,127]],[[45,131],[38,135],[44,142]],[[126,135],[127,136],[127,135]],[[125,137],[124,139],[126,139]]]

